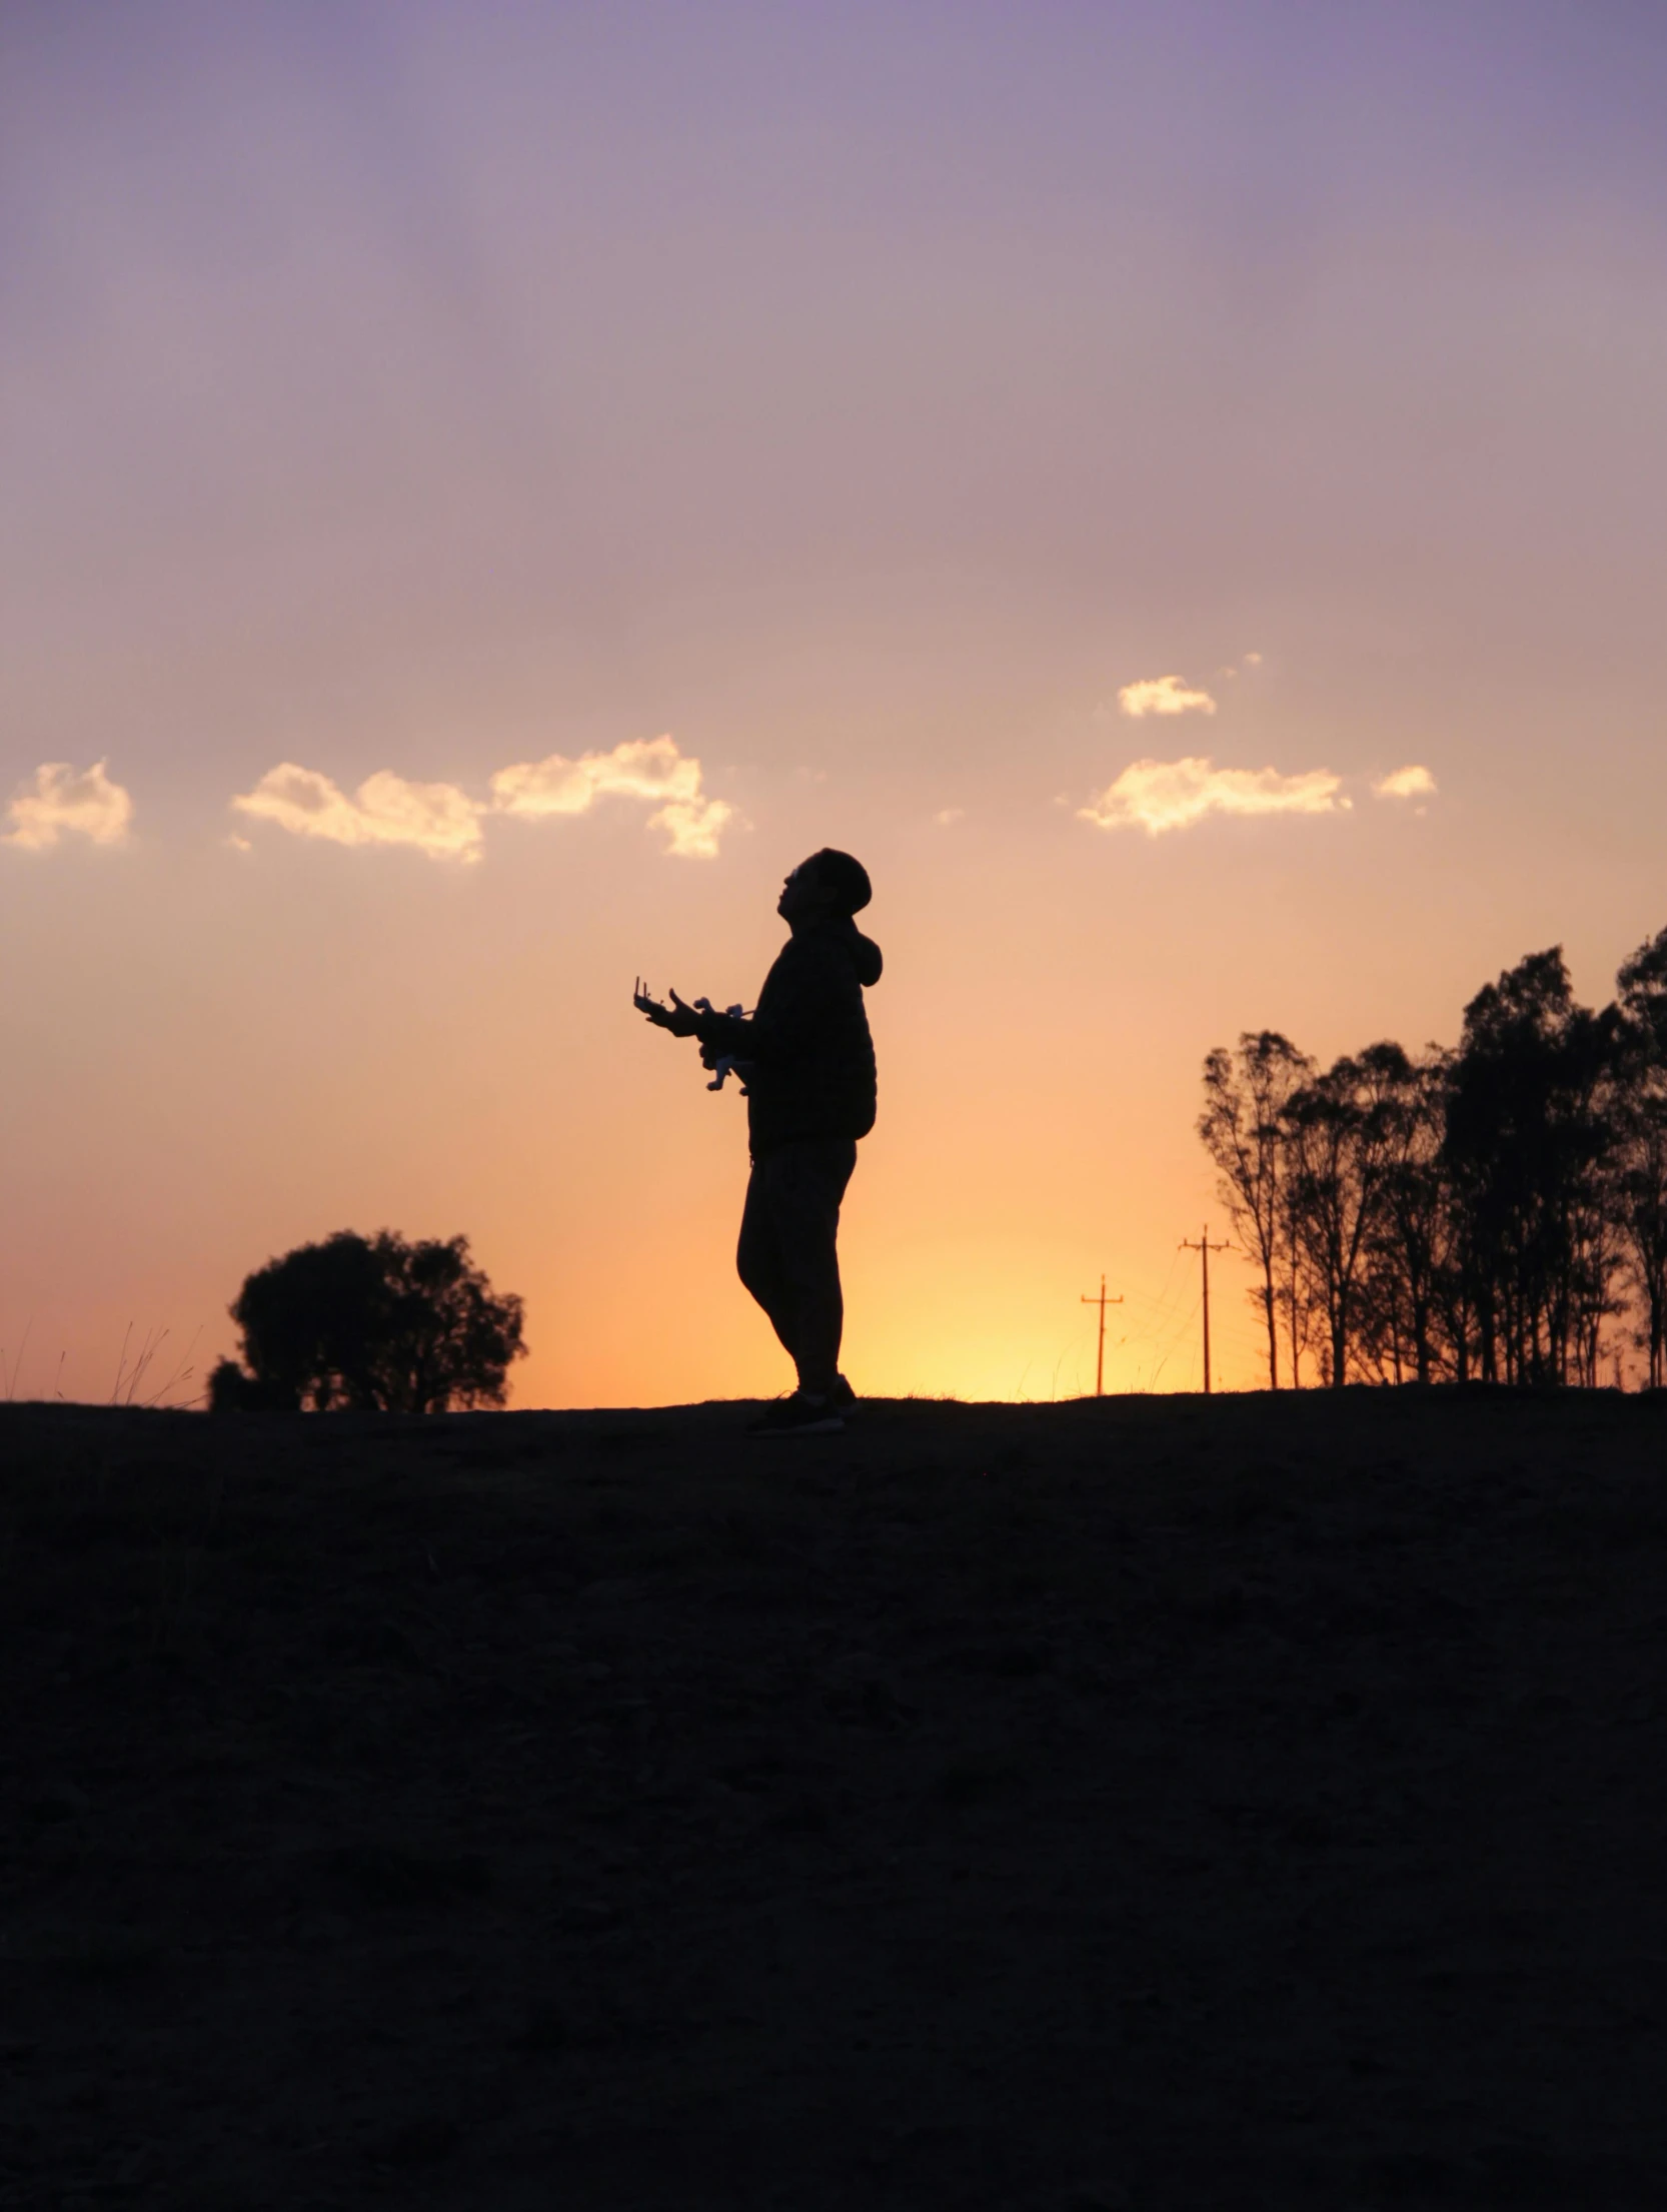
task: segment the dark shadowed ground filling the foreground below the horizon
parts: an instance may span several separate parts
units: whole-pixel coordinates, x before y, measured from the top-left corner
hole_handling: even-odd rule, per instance
[[[0,1409],[0,2205],[1667,2203],[1667,1407]]]

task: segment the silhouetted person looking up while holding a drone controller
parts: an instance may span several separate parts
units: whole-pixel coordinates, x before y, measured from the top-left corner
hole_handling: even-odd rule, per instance
[[[752,1015],[637,1006],[674,1037],[699,1037],[707,1068],[725,1062],[747,1088],[752,1179],[736,1267],[798,1369],[798,1389],[754,1433],[816,1436],[845,1427],[853,1402],[840,1374],[845,1298],[838,1230],[858,1137],[873,1128],[873,1040],[862,987],[880,980],[880,947],[851,920],[873,896],[849,852],[825,847],[791,872],[776,914],[791,938]]]

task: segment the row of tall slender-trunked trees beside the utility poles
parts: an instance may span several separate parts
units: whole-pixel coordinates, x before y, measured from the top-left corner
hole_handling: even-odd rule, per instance
[[[1667,929],[1596,1011],[1552,947],[1477,991],[1457,1046],[1320,1068],[1262,1029],[1203,1079],[1271,1389],[1596,1387],[1625,1347],[1667,1380]]]

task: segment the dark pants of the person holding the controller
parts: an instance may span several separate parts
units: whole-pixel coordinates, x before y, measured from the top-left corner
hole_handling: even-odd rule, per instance
[[[783,1340],[798,1387],[834,1389],[840,1367],[840,1199],[856,1168],[849,1137],[800,1137],[752,1164],[736,1270]]]

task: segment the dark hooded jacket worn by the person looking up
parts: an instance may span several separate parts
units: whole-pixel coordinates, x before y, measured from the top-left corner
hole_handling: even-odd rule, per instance
[[[701,1044],[745,1064],[754,1159],[798,1137],[867,1137],[873,1128],[862,987],[880,982],[880,947],[853,920],[816,922],[776,953],[752,1015],[701,1015]]]

